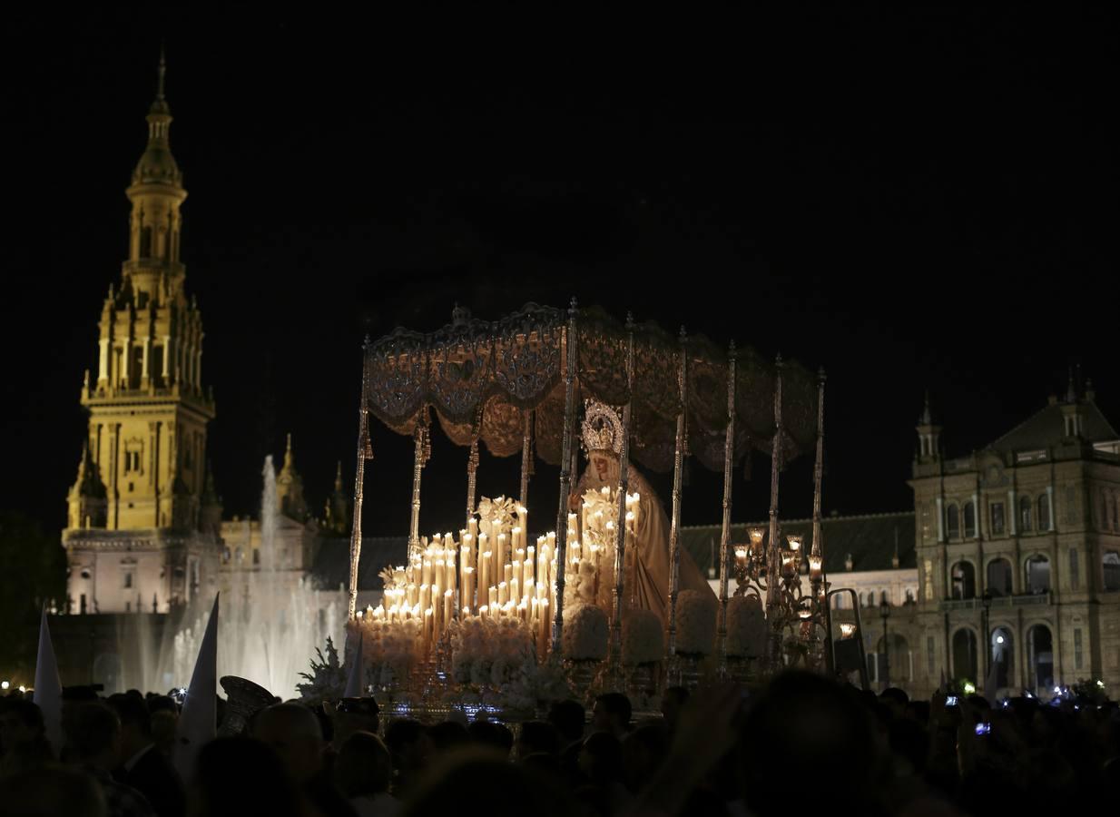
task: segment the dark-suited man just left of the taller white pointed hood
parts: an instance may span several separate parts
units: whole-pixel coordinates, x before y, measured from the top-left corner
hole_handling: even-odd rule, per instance
[[[114,777],[148,798],[159,817],[184,817],[186,789],[151,734],[151,714],[139,695],[111,695],[109,706],[121,719],[121,764]]]

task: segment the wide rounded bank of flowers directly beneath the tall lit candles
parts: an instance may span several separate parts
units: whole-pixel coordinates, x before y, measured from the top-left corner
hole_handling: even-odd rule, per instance
[[[470,616],[448,629],[451,679],[476,687],[503,688],[519,677],[526,663],[536,663],[533,633],[517,619]]]

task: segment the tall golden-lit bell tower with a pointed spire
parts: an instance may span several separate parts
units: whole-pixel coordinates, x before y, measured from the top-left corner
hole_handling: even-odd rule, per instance
[[[90,412],[88,453],[68,495],[63,536],[72,584],[75,563],[88,574],[86,563],[100,559],[94,553],[103,553],[110,540],[116,548],[152,549],[162,556],[158,569],[152,567],[155,586],[144,582],[136,587],[141,576],[134,576],[121,588],[129,593],[106,595],[101,583],[94,596],[101,612],[118,606],[123,612],[125,604],[134,609],[138,595],[144,609],[153,596],[188,598],[200,560],[188,559],[188,553],[206,549],[206,537],[197,533],[208,495],[206,426],[214,418],[214,401],[203,387],[202,316],[187,297],[179,260],[179,211],[187,192],[171,155],[164,76],[160,55],[158,90],[147,117],[148,145],[125,191],[132,203],[128,259],[119,285],[110,285],[102,304],[96,375],[91,379],[86,371],[82,388],[82,406]]]

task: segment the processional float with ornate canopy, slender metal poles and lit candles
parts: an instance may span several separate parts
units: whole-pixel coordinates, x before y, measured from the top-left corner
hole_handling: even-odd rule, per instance
[[[765,643],[756,650],[759,654],[753,656],[757,659],[754,666],[763,674],[793,663],[831,671],[829,583],[821,537],[823,394],[823,371],[814,374],[781,356],[771,363],[750,349],[736,349],[734,342],[725,351],[703,337],[687,336],[684,329],[674,337],[654,325],[635,324],[629,317],[619,324],[598,309],[578,309],[575,299],[567,310],[530,304],[496,322],[472,318],[457,308],[451,324],[435,333],[398,328],[376,342],[367,337],[349,554],[349,625],[381,630],[399,625],[394,632],[419,646],[419,660],[410,665],[412,671],[435,671],[432,651],[437,643],[446,644],[450,629],[504,614],[530,624],[522,629],[535,639],[534,654],[540,663],[557,666],[572,658],[564,656],[566,583],[578,575],[572,567],[579,557],[572,551],[580,547],[577,537],[581,528],[577,514],[569,514],[569,494],[573,472],[578,473],[578,409],[594,400],[622,409],[619,485],[609,494],[612,503],[617,503],[614,520],[629,519],[626,514],[632,500],[636,510],[636,498],[627,493],[626,484],[631,461],[653,472],[673,474],[663,641],[670,679],[674,667],[679,672],[683,652],[678,639],[680,517],[684,466],[690,456],[724,472],[715,671],[728,674],[729,606],[734,629],[752,605],[759,619],[763,611],[765,615]],[[438,547],[421,538],[419,527],[432,414],[445,434],[468,449],[466,524],[458,540],[450,533],[433,537]],[[364,611],[363,622],[356,600],[364,472],[365,463],[373,458],[371,415],[391,430],[411,435],[414,456],[407,565],[383,574],[395,595],[386,597],[377,611]],[[510,556],[512,564],[504,556],[494,558],[495,545],[488,539],[483,544],[485,532],[478,527],[480,443],[495,456],[521,454],[520,504],[515,517],[506,520],[520,524],[503,528],[495,522],[491,528],[496,537],[512,537],[513,541],[503,544],[508,548],[504,556]],[[778,473],[785,463],[810,449],[815,449],[816,462],[813,532],[806,557],[801,537],[781,542]],[[752,530],[749,542],[738,545],[731,541],[731,475],[752,451],[771,456],[769,527]],[[536,539],[535,554],[525,518],[534,457],[560,468],[556,524]],[[487,501],[487,505],[493,503]],[[610,686],[620,679],[624,566],[633,531],[626,522],[607,530],[614,537],[613,609],[607,611],[609,651],[603,665],[609,671],[600,672],[599,679]],[[588,547],[585,542],[580,553],[585,558],[589,557]],[[503,553],[501,548],[497,546],[498,553]],[[513,558],[516,556],[521,558]],[[536,564],[531,565],[534,558]],[[511,577],[511,567],[516,577]],[[802,589],[806,568],[809,593]],[[485,579],[483,570],[488,574]],[[732,575],[737,588],[729,597]],[[497,587],[492,583],[497,579],[501,586],[506,577],[511,577],[510,586],[495,594]],[[511,591],[520,595],[530,587],[532,598],[511,597]],[[524,607],[521,602],[525,602]]]

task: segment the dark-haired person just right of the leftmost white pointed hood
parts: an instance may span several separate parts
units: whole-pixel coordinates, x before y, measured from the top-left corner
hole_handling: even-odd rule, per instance
[[[155,817],[142,793],[113,779],[121,762],[121,721],[100,702],[68,704],[63,711],[66,756],[101,786],[109,817]]]

